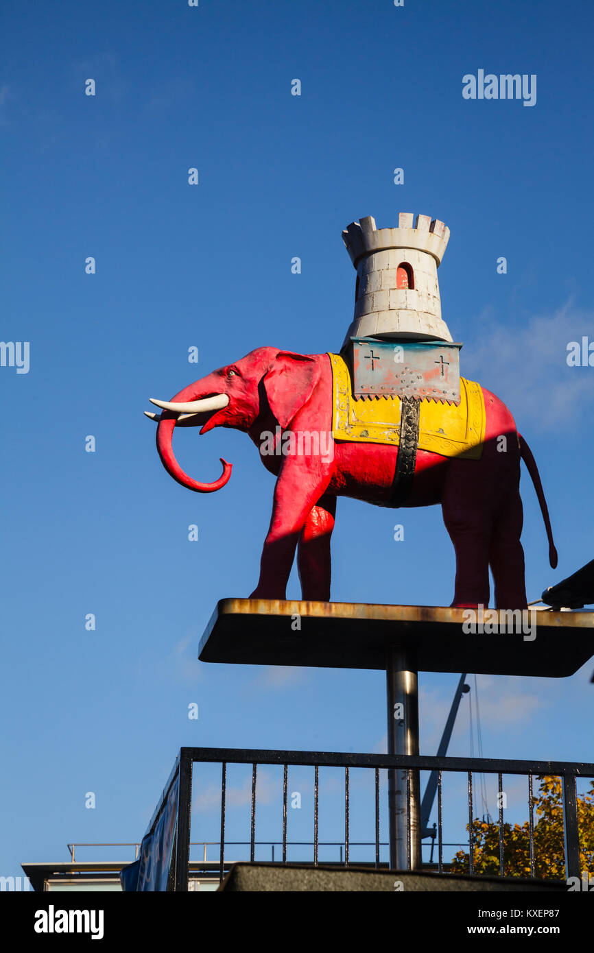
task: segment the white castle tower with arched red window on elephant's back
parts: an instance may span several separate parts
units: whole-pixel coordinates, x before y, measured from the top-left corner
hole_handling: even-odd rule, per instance
[[[351,337],[451,341],[441,318],[438,265],[450,230],[438,219],[399,213],[397,229],[377,229],[371,215],[342,233],[357,269]]]

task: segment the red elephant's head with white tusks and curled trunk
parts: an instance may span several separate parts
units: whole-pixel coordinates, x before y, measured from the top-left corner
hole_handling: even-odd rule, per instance
[[[154,400],[160,416],[145,411],[157,423],[156,448],[170,476],[196,493],[212,493],[225,486],[232,465],[221,457],[223,472],[213,483],[200,483],[181,469],[174,456],[174,427],[200,426],[200,434],[214,427],[249,431],[274,417],[284,430],[308,400],[319,378],[317,355],[297,355],[277,348],[257,348],[241,360],[201,377],[174,395]]]

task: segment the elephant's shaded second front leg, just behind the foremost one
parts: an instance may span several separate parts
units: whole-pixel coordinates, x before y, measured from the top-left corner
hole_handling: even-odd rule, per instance
[[[312,507],[297,545],[301,598],[330,599],[330,537],[337,512],[337,497],[324,496]]]

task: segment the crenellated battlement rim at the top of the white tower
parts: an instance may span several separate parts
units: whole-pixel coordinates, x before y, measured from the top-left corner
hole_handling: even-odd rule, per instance
[[[384,252],[388,249],[410,248],[432,255],[439,265],[445,253],[450,230],[439,218],[429,215],[414,215],[411,212],[399,213],[398,228],[379,229],[373,215],[351,222],[342,233],[342,240],[355,268],[364,255]]]

